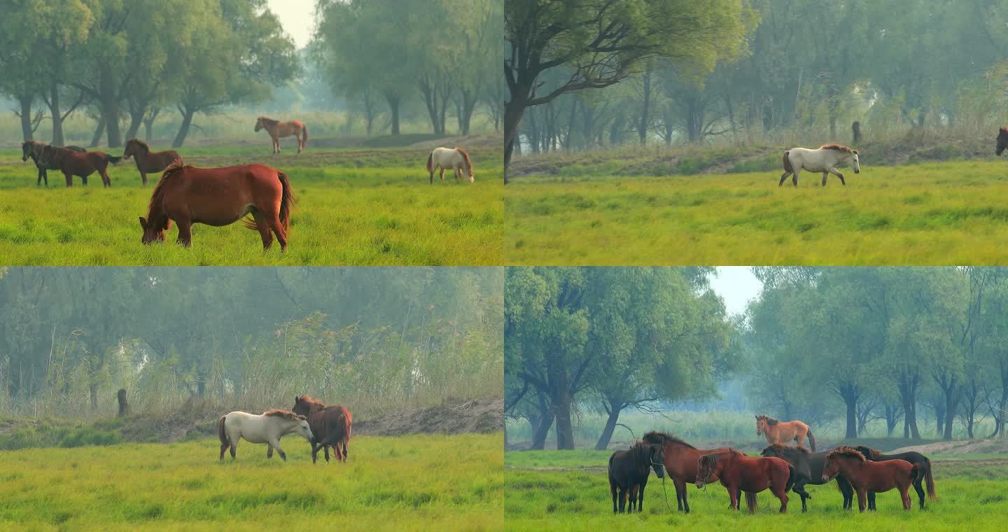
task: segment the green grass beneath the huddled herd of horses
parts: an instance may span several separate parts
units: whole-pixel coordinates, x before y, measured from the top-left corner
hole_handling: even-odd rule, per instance
[[[697,490],[687,486],[690,514],[675,510],[675,490],[651,475],[644,496],[644,512],[612,513],[606,463],[611,451],[506,452],[504,515],[509,530],[642,530],[647,527],[688,526],[695,530],[1003,530],[1008,519],[1008,458],[961,459],[934,456],[938,500],[924,512],[904,512],[896,492],[877,496],[878,511],[859,514],[842,509],[843,498],[834,484],[808,486],[812,495],[808,513],[801,499],[789,493],[788,513],[768,492],[759,495],[759,511],[728,509],[728,492],[720,484]],[[955,458],[955,459],[953,459]],[[971,456],[981,458],[981,456]]]

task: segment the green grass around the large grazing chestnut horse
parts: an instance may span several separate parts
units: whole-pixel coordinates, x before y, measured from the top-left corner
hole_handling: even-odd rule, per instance
[[[289,139],[288,139],[289,140]],[[324,144],[321,139],[319,144]],[[142,187],[132,160],[110,167],[113,187],[97,174],[87,187],[66,188],[57,171],[37,187],[30,160],[0,152],[0,249],[5,265],[497,265],[503,257],[503,167],[499,149],[470,150],[476,182],[454,177],[428,183],[426,150],[309,148],[283,144],[276,157],[262,146],[185,148],[186,162],[223,166],[262,162],[289,175],[297,205],[289,246],[262,251],[259,235],[241,224],[196,225],[193,247],[140,244],[159,175]],[[155,149],[163,147],[155,146]],[[109,150],[121,154],[121,150]]]

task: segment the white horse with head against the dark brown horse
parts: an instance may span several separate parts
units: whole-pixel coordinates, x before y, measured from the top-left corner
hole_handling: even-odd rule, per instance
[[[231,458],[235,458],[238,440],[245,438],[249,443],[265,443],[269,445],[266,457],[273,457],[273,449],[280,453],[284,460],[287,455],[280,448],[280,438],[291,432],[300,434],[308,443],[311,442],[311,429],[304,416],[289,410],[273,408],[262,415],[248,412],[231,412],[217,420],[217,435],[221,438],[221,459],[224,451],[231,447]]]

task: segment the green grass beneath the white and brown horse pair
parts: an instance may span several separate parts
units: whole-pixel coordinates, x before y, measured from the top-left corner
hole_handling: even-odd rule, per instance
[[[354,437],[347,463],[214,439],[0,454],[0,529],[500,530],[503,434]]]

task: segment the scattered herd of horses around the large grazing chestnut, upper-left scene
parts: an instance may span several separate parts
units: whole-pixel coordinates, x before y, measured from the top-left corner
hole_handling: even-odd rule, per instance
[[[293,120],[280,122],[259,117],[255,131],[265,129],[273,140],[273,153],[279,153],[279,138],[297,137],[297,153],[307,143],[307,126]],[[151,151],[139,139],[126,142],[123,155],[109,155],[102,151],[87,151],[80,146],[53,146],[42,142],[25,141],[21,144],[21,160],[31,158],[38,168],[38,181],[48,186],[47,170],[59,170],[73,186],[74,176],[88,184],[88,176],[98,172],[105,186],[112,186],[108,166],[122,159],[133,157],[140,179],[147,184],[147,173],[162,172],[154,186],[147,207],[147,216],[139,217],[143,244],[163,242],[164,232],[171,222],[178,226],[176,241],[183,246],[193,244],[193,224],[222,227],[252,216],[245,226],[259,232],[263,250],[270,248],[273,236],[280,249],[287,249],[287,232],[290,229],[290,212],[294,204],[293,190],[287,175],[265,164],[244,164],[219,168],[197,168],[184,163],[174,150]],[[473,163],[469,153],[460,147],[437,147],[427,155],[427,172],[433,183],[434,172],[440,169],[455,173],[456,181],[468,173],[469,182],[475,181]]]

